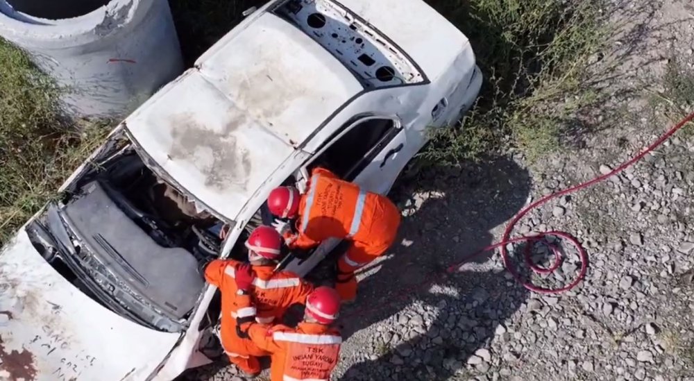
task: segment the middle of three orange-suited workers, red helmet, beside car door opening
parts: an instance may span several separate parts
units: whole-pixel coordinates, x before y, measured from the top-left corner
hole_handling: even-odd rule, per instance
[[[249,266],[257,274],[253,281],[253,297],[257,300],[255,319],[260,323],[278,321],[291,305],[306,303],[307,296],[313,290],[295,273],[274,271],[281,246],[282,237],[270,226],[255,228],[246,241]],[[248,377],[253,377],[261,371],[257,357],[268,356],[269,353],[255,346],[251,340],[237,335],[236,318],[239,312],[234,302],[238,289],[234,279],[235,266],[239,264],[241,262],[235,260],[212,260],[205,266],[205,280],[221,291],[219,337],[224,351],[230,362]]]

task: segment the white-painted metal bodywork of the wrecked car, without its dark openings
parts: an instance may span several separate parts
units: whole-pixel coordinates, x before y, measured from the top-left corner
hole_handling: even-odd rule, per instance
[[[339,44],[329,45],[325,35],[308,37],[301,25],[270,14],[278,3],[251,14],[115,131],[126,130],[133,137],[151,158],[148,165],[155,173],[187,191],[200,208],[233,224],[220,257],[230,254],[273,187],[301,173],[359,121],[373,117],[392,119],[397,129],[355,182],[387,193],[427,141],[428,128],[456,121],[471,107],[482,82],[466,37],[421,0],[341,1],[366,20],[360,31],[375,33],[373,41],[382,38],[378,33],[392,41],[362,50],[399,62],[396,78],[380,84],[363,72],[355,74],[358,65],[346,69],[359,49],[343,49],[336,59]],[[339,23],[355,20],[354,15],[337,3],[316,4],[330,10],[327,17],[338,23],[331,27],[349,35]],[[292,262],[289,269],[304,275],[336,243],[323,243],[310,261]],[[76,359],[70,366],[81,372],[80,380],[171,380],[210,361],[198,350],[198,327],[214,287],[201,290],[185,332],[144,328],[101,307],[62,278],[22,230],[0,254],[0,291],[0,369],[19,360],[35,370],[27,380],[60,380],[54,372],[67,372],[68,357]],[[53,316],[52,305],[44,301],[59,304],[65,313]],[[48,332],[39,321],[51,322]],[[60,335],[52,335],[52,327]],[[42,341],[32,341],[36,335],[55,338],[58,347],[51,356],[56,358],[43,355]],[[86,355],[88,362],[80,357]],[[0,379],[8,377],[2,372]],[[65,373],[62,379],[74,377]]]

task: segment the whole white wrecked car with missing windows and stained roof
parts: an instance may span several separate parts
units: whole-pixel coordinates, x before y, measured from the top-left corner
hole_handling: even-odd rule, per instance
[[[3,249],[0,379],[171,380],[210,362],[220,306],[198,261],[243,257],[270,190],[315,165],[387,192],[481,81],[466,37],[421,0],[253,12]],[[285,264],[305,275],[333,244]]]

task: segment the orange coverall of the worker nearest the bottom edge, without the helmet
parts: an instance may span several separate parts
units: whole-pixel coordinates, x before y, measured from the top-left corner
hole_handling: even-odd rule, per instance
[[[252,309],[251,296],[237,296],[237,305]],[[342,344],[338,330],[319,323],[303,322],[289,328],[258,324],[252,319],[243,322],[242,318],[238,324],[258,348],[271,353],[271,381],[330,380]]]

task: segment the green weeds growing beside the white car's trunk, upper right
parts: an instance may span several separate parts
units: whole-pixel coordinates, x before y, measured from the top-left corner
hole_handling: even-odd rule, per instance
[[[435,131],[421,157],[451,163],[516,145],[534,160],[559,149],[575,112],[598,101],[585,83],[607,35],[602,1],[428,2],[468,36],[484,84],[462,128]]]

